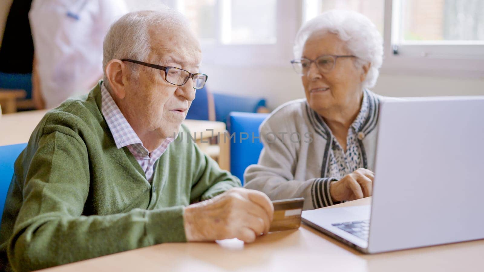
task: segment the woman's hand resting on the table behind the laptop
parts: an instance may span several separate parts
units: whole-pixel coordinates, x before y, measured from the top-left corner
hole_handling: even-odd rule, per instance
[[[375,179],[375,174],[372,171],[358,168],[341,180],[331,182],[331,198],[333,201],[343,201],[371,196],[373,179]]]

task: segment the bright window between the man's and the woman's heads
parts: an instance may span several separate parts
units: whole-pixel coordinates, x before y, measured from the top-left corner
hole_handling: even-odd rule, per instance
[[[299,24],[300,1],[165,1],[192,23],[203,62],[222,66],[287,66]]]

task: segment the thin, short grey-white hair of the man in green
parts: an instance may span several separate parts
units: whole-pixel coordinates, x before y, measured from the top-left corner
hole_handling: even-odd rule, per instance
[[[164,30],[189,30],[190,23],[180,12],[164,7],[157,11],[136,11],[122,16],[107,31],[103,43],[104,84],[109,90],[106,65],[113,59],[147,61],[151,52],[149,30],[161,26]],[[163,35],[164,33],[160,33]],[[129,63],[133,76],[138,76],[136,64]]]

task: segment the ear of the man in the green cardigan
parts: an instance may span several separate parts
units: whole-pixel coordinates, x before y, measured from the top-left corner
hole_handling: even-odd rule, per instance
[[[118,99],[126,96],[125,83],[128,67],[121,60],[109,60],[106,64],[106,79],[111,87],[111,95]]]

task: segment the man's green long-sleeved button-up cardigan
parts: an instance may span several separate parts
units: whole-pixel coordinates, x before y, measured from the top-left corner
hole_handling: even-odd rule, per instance
[[[185,242],[183,207],[241,186],[183,125],[148,182],[131,152],[116,148],[100,108],[98,84],[49,111],[15,161],[0,228],[7,269]]]

